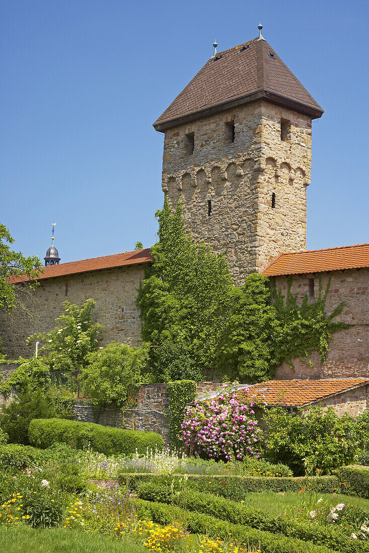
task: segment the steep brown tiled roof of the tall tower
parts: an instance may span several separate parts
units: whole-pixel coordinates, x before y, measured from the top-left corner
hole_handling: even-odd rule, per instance
[[[209,59],[153,126],[163,131],[259,98],[312,118],[323,113],[273,48],[265,40],[253,39]]]

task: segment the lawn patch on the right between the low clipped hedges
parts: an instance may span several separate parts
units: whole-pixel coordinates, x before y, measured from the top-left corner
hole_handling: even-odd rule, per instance
[[[246,493],[244,496],[245,503],[250,502],[253,507],[260,507],[268,510],[270,513],[279,515],[284,513],[285,509],[300,509],[303,501],[309,502],[311,494],[309,493],[296,493],[296,492],[262,492],[262,493]],[[360,507],[362,510],[369,511],[369,499],[363,499],[361,497],[355,497],[352,495],[341,495],[331,493],[314,494],[312,500],[316,502],[317,499],[322,498],[332,505],[337,503],[345,503],[352,507]]]

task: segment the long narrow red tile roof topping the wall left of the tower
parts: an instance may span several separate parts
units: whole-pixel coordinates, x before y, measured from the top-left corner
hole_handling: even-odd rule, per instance
[[[94,257],[91,259],[82,259],[80,261],[71,261],[69,263],[60,263],[59,265],[49,265],[44,267],[44,273],[41,273],[37,280],[47,278],[57,278],[58,276],[74,275],[78,273],[89,273],[90,271],[101,271],[104,269],[114,269],[115,267],[129,267],[141,263],[152,261],[150,248],[137,250],[134,252],[116,253],[114,255],[104,255],[104,257]],[[12,283],[27,281],[25,278],[13,278]]]

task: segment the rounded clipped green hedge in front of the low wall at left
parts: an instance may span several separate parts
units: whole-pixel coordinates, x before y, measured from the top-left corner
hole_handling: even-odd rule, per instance
[[[57,442],[85,447],[104,455],[145,455],[147,448],[162,450],[163,439],[155,432],[122,430],[93,422],[66,419],[34,419],[29,425],[28,438],[35,447],[47,448]]]

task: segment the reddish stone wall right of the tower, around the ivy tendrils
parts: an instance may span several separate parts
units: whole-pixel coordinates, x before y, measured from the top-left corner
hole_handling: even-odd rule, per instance
[[[309,294],[309,279],[314,279],[314,301],[319,293],[319,279],[325,291],[329,278],[330,289],[327,294],[326,312],[331,313],[341,301],[346,305],[337,320],[350,325],[347,330],[332,335],[325,365],[320,362],[317,353],[312,354],[313,366],[294,359],[295,372],[287,363],[276,371],[280,380],[293,378],[369,378],[369,269],[350,269],[332,271],[331,273],[306,274],[293,276],[291,292],[299,294],[302,299]],[[277,288],[286,292],[287,279],[278,276],[275,279]]]

